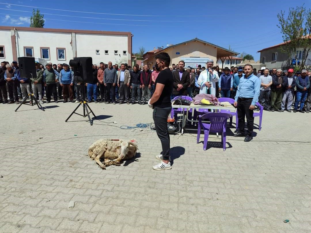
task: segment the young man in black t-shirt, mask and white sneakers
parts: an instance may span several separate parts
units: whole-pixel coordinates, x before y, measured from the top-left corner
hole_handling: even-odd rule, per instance
[[[173,74],[169,69],[171,59],[167,53],[159,53],[155,56],[155,69],[160,71],[156,79],[156,90],[149,100],[149,107],[153,107],[153,120],[156,127],[156,133],[162,144],[162,153],[156,156],[156,159],[162,160],[159,164],[153,166],[154,170],[171,169],[169,158],[169,131],[167,129],[167,118],[172,110],[170,97],[173,91]]]

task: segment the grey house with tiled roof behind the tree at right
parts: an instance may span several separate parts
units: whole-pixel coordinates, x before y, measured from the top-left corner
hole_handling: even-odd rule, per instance
[[[263,48],[262,50],[257,51],[260,53],[260,62],[265,64],[265,66],[269,69],[276,68],[276,69],[284,69],[288,68],[291,65],[296,64],[295,57],[288,57],[287,54],[282,53],[280,51],[280,46],[285,45],[286,42],[273,45],[268,48]],[[304,59],[304,51],[302,48],[298,48],[296,51],[298,57],[298,64],[300,64],[301,60]],[[306,63],[306,67],[311,66],[311,53],[309,53]]]

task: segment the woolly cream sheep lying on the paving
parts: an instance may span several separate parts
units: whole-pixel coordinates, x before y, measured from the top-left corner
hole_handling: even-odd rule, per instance
[[[89,156],[105,169],[106,166],[120,166],[121,160],[133,158],[137,151],[136,140],[124,141],[119,139],[99,139],[89,147]],[[104,162],[100,162],[104,158]]]

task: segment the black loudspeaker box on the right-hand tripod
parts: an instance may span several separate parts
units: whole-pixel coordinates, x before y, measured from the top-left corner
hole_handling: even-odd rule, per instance
[[[91,83],[93,81],[92,57],[74,57],[69,61],[77,83]]]

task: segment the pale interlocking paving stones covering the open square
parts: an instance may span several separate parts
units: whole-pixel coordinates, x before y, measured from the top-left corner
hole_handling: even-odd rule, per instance
[[[264,112],[249,143],[227,130],[225,152],[171,135],[173,168],[155,171],[156,133],[119,128],[153,122],[147,105],[91,103],[93,126],[65,122],[77,104],[44,106],[0,104],[0,232],[311,231],[311,145],[291,141],[311,141],[311,114]],[[100,169],[86,155],[101,138],[137,139],[137,158]]]

